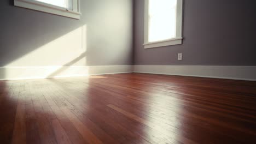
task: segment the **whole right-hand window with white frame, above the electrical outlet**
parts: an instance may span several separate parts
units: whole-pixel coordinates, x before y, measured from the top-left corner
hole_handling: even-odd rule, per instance
[[[145,0],[144,48],[182,44],[182,0]]]

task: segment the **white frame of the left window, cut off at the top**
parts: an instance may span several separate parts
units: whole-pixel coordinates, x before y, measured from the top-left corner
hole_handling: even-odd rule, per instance
[[[14,0],[16,7],[43,11],[45,13],[80,19],[79,0],[72,1],[72,10],[33,0]]]

